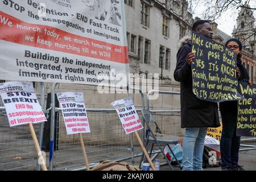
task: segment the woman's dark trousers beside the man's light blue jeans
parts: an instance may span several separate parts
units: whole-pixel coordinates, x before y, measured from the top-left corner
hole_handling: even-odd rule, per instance
[[[241,141],[241,137],[236,136],[236,111],[221,111],[221,118],[221,166],[231,169],[238,166],[238,153]]]

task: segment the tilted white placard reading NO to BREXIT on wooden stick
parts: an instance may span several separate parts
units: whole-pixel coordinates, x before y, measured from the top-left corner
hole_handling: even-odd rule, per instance
[[[126,134],[135,133],[135,136],[147,158],[148,163],[150,163],[151,168],[155,171],[154,164],[152,163],[150,157],[147,154],[146,148],[144,147],[141,138],[139,137],[138,130],[143,129],[141,119],[137,114],[133,100],[131,97],[124,98],[122,100],[114,101],[111,104],[117,111],[118,117],[122,123],[122,127]]]

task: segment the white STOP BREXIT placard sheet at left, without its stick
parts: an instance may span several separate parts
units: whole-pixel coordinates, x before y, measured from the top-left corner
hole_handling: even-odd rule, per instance
[[[1,83],[0,94],[10,127],[47,121],[32,82]]]

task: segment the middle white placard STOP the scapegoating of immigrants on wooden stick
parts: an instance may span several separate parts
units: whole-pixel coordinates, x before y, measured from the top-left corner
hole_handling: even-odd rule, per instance
[[[82,133],[90,133],[88,117],[84,104],[84,93],[59,92],[57,93],[57,98],[60,103],[67,134],[79,134],[86,169],[89,171],[90,168],[84,146],[84,140],[82,139]]]

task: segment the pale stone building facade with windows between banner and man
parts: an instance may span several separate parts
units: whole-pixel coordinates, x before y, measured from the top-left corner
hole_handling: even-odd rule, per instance
[[[125,2],[131,73],[159,73],[160,79],[174,80],[177,44],[193,24],[187,1]]]

